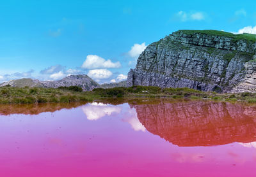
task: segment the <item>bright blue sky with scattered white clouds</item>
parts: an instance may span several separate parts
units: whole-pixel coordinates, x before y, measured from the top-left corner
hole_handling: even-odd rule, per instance
[[[120,81],[179,29],[256,33],[255,1],[1,1],[0,82],[88,74]],[[239,31],[240,30],[240,31]]]

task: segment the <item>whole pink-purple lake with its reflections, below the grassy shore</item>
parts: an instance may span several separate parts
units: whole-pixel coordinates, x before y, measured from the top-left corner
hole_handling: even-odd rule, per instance
[[[113,105],[115,104],[115,105]],[[256,176],[256,106],[0,106],[0,176]]]

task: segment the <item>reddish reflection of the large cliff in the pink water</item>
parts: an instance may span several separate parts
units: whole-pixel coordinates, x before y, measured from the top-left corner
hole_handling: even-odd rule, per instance
[[[147,131],[178,146],[256,141],[256,106],[189,101],[130,104]]]

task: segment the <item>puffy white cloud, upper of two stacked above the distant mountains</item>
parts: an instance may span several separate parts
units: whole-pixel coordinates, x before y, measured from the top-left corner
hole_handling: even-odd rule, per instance
[[[82,68],[85,69],[97,69],[97,68],[117,68],[120,67],[120,62],[111,62],[111,60],[105,60],[98,55],[87,55],[84,60]]]

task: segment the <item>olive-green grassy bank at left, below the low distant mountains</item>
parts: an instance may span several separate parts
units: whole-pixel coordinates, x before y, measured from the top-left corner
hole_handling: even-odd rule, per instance
[[[0,104],[71,103],[93,101],[97,96],[82,92],[80,87],[0,87]]]

